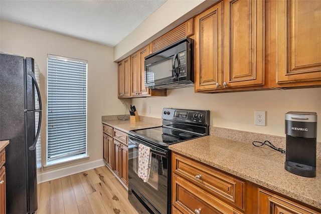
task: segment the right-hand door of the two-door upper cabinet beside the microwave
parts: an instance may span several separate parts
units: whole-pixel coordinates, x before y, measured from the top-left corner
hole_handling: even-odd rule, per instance
[[[223,3],[223,87],[264,85],[264,1]]]

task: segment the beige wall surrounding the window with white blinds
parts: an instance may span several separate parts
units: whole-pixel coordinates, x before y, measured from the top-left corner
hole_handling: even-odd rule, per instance
[[[43,164],[46,160],[47,141],[47,54],[88,61],[88,155],[90,158],[77,162],[77,164],[102,159],[101,116],[123,114],[125,111],[124,105],[117,99],[117,64],[113,63],[113,49],[1,21],[0,51],[33,57],[40,68],[44,109],[41,128]]]

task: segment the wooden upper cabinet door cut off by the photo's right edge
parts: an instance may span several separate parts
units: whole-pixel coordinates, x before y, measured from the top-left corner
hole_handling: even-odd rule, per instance
[[[320,81],[321,1],[279,0],[275,3],[276,82]]]

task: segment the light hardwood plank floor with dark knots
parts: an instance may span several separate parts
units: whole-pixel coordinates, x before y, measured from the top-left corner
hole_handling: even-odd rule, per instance
[[[38,185],[36,214],[138,213],[106,166]]]

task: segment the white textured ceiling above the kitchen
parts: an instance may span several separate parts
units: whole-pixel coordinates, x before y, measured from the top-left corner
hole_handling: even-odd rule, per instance
[[[0,19],[110,47],[167,0],[0,0]]]

